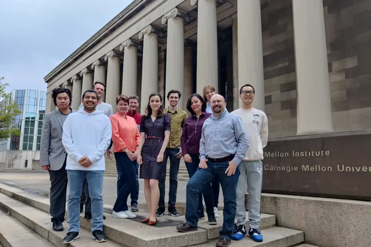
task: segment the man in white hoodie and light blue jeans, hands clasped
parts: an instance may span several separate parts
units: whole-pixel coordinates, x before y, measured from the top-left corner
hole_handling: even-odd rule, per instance
[[[70,228],[63,244],[79,238],[80,196],[86,178],[92,199],[92,232],[96,242],[105,242],[103,234],[103,174],[104,153],[112,136],[109,118],[96,109],[97,93],[89,89],[84,92],[84,108],[68,115],[63,124],[62,143],[67,151],[66,170],[68,175],[68,217]]]

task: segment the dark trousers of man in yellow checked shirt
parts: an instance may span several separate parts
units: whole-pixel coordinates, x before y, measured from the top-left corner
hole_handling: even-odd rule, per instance
[[[181,159],[178,159],[176,155],[179,153],[179,148],[167,148],[165,152],[164,160],[167,163],[170,158],[170,173],[169,173],[169,202],[168,210],[175,207],[177,202],[177,190],[178,190],[178,172]],[[158,187],[160,189],[160,199],[158,201],[158,207],[165,209],[165,180],[166,180],[166,166],[162,171],[161,179]]]

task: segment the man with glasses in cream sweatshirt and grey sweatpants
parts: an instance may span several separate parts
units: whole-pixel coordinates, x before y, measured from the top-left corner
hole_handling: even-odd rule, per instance
[[[263,111],[252,107],[255,89],[250,84],[243,85],[239,90],[239,97],[243,103],[242,108],[232,112],[242,119],[246,136],[250,142],[243,161],[238,165],[240,175],[236,189],[236,225],[233,240],[241,240],[246,233],[255,242],[262,242],[263,236],[259,231],[260,223],[260,194],[262,192],[263,178],[263,148],[268,141],[268,119]],[[249,231],[245,229],[246,209],[245,192],[249,193]]]

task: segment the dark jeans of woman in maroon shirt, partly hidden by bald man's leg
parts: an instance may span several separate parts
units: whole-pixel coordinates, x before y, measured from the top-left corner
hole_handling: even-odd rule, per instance
[[[198,165],[200,164],[200,159],[198,155],[190,154],[192,159],[191,163],[185,162],[185,167],[187,168],[189,178],[191,178],[196,172]],[[198,210],[197,213],[203,214],[203,203],[202,203],[202,194],[205,200],[206,212],[208,215],[214,215],[214,206],[213,206],[213,193],[210,184],[206,184],[198,197]]]

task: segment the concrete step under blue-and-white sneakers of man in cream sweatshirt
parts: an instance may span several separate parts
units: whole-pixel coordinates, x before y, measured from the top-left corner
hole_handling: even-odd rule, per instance
[[[273,227],[262,230],[263,242],[254,242],[249,237],[244,237],[240,241],[233,241],[233,247],[291,247],[304,242],[304,232],[283,227]],[[197,247],[215,247],[218,240],[198,245]]]

